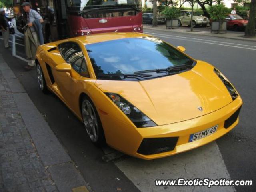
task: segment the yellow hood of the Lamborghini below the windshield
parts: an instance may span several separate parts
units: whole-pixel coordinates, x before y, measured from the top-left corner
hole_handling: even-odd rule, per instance
[[[164,125],[203,116],[232,102],[213,69],[198,61],[192,70],[176,75],[143,81],[97,80],[95,84],[103,92],[121,95],[156,124]]]

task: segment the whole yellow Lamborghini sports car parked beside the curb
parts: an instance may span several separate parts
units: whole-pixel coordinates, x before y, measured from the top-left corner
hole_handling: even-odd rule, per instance
[[[90,140],[143,159],[184,152],[238,124],[242,99],[214,66],[153,36],[105,33],[44,44],[43,92],[54,92]]]

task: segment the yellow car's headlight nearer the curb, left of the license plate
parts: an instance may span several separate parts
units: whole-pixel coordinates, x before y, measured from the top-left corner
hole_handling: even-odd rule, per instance
[[[157,124],[152,121],[148,116],[142,113],[133,104],[128,102],[122,96],[115,93],[105,93],[113,102],[126,114],[126,116],[134,123],[136,127],[154,127]]]

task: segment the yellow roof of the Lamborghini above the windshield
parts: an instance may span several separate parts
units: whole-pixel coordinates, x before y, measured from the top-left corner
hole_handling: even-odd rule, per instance
[[[137,32],[111,32],[111,33],[84,35],[84,36],[69,38],[65,40],[60,40],[60,41],[57,41],[56,43],[60,44],[62,42],[72,41],[76,39],[76,40],[80,40],[83,44],[93,44],[93,43],[117,40],[122,38],[140,38],[145,36],[150,36],[150,35],[137,33]]]

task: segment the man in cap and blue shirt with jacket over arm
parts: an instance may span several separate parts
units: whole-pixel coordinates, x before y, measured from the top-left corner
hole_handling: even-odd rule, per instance
[[[31,8],[29,2],[24,2],[21,6],[26,12],[28,26],[24,32],[26,56],[29,60],[25,68],[31,70],[36,65],[36,48],[42,40],[41,23],[44,22],[44,20],[38,12]]]

